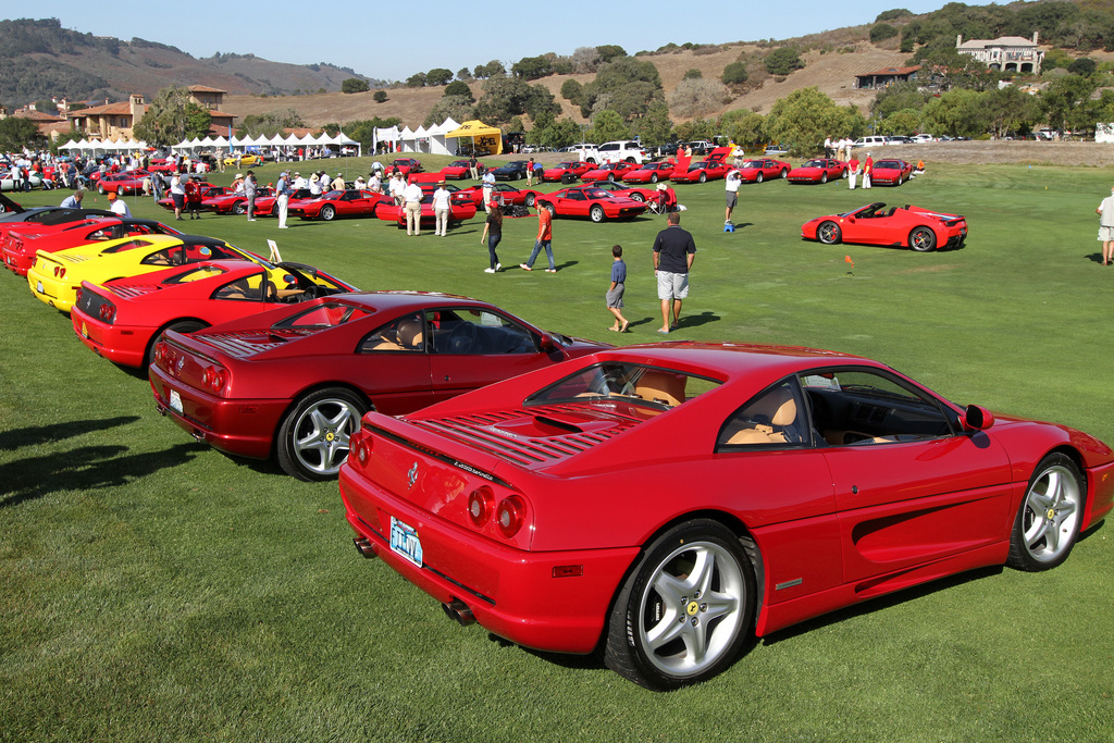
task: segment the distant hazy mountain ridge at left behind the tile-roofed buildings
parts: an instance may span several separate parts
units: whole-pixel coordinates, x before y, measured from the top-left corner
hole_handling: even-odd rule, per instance
[[[57,18],[0,21],[0,102],[22,106],[51,97],[148,99],[170,85],[206,85],[240,95],[299,95],[341,89],[348,78],[375,80],[335,65],[289,65],[254,55],[197,59],[177,47],[123,41],[61,27]]]

